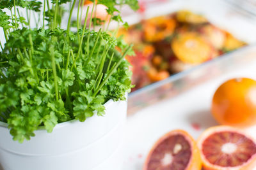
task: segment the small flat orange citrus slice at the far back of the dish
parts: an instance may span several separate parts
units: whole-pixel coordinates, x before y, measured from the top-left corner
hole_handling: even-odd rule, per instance
[[[186,22],[189,24],[203,24],[207,22],[207,19],[201,15],[186,10],[178,11],[176,17],[179,22]]]

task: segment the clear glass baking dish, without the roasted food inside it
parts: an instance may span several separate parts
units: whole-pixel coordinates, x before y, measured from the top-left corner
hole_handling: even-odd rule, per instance
[[[145,6],[147,8],[143,13],[129,14],[129,11],[126,11],[124,20],[131,25],[145,18],[167,15],[178,10],[189,10],[202,14],[213,25],[230,32],[249,45],[131,92],[128,100],[129,114],[150,104],[174,97],[214,76],[226,73],[256,59],[256,18],[250,13],[234,10],[234,6],[228,4],[228,1],[192,0],[159,1],[158,3],[152,1]]]

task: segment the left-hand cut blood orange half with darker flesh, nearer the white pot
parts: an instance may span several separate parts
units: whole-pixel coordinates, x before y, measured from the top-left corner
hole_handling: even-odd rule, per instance
[[[185,131],[168,132],[153,146],[143,170],[200,170],[202,162],[194,139]]]

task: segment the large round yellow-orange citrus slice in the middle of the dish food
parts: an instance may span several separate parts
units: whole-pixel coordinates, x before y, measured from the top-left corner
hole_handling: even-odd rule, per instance
[[[172,41],[176,57],[189,64],[200,64],[211,59],[212,46],[196,32],[178,34]]]

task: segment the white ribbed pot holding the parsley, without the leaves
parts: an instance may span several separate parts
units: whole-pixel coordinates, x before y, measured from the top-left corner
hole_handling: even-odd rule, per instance
[[[30,141],[12,140],[0,122],[0,169],[3,170],[118,170],[122,166],[122,134],[127,102],[108,101],[106,115],[85,122],[56,125],[52,133],[35,132]]]

